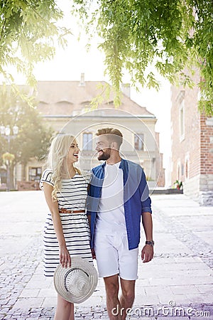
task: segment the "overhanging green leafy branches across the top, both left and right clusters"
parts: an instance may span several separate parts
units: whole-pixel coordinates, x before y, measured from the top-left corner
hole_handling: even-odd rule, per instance
[[[0,72],[13,65],[34,82],[33,64],[51,58],[54,39],[65,44],[66,28],[56,0],[1,0]],[[213,5],[212,0],[72,0],[90,36],[101,38],[107,73],[117,92],[124,69],[137,83],[158,88],[151,65],[171,83],[192,85],[193,69],[200,70],[200,110],[213,114]],[[71,18],[71,16],[70,16]],[[22,58],[20,58],[22,57]]]

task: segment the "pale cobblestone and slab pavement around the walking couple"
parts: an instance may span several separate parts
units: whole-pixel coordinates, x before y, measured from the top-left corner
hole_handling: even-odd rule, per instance
[[[213,319],[213,208],[182,195],[152,196],[152,201],[155,257],[138,263],[128,319]],[[53,319],[56,294],[41,262],[43,194],[1,192],[0,206],[0,319]],[[75,306],[75,319],[108,319],[102,279],[93,296]]]

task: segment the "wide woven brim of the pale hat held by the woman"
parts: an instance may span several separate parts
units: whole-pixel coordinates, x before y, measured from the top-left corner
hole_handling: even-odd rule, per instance
[[[83,270],[88,276],[88,283],[84,287],[84,292],[80,295],[72,294],[71,292],[67,291],[65,287],[65,277],[67,272],[71,272],[73,269]],[[82,259],[81,257],[71,257],[71,267],[64,268],[62,265],[58,265],[58,267],[56,267],[53,282],[56,292],[58,292],[61,297],[68,302],[80,304],[81,302],[87,300],[94,292],[94,289],[97,287],[98,274],[92,263],[89,263],[87,260]]]

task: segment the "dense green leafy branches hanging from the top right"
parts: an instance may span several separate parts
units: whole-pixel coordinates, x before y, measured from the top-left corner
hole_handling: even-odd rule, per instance
[[[172,84],[193,85],[200,70],[200,110],[213,114],[212,0],[74,0],[87,31],[102,39],[107,73],[119,92],[124,69],[131,84],[155,87],[155,72]],[[90,8],[90,9],[89,9]],[[119,97],[117,95],[117,97]]]

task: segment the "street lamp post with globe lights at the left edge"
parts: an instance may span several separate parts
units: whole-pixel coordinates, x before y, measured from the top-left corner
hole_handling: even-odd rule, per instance
[[[16,138],[18,134],[18,126],[13,126],[13,134],[11,134],[11,128],[9,125],[1,126],[0,127],[0,133],[1,137],[4,137],[4,139],[8,142],[8,152],[10,153],[11,150],[11,139]],[[6,191],[10,191],[11,189],[11,161],[9,159],[6,160]]]

